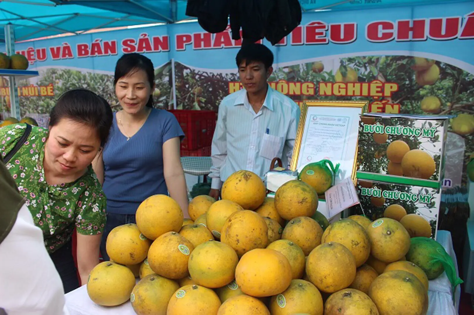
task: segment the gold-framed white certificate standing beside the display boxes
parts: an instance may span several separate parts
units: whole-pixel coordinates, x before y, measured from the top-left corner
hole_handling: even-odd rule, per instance
[[[351,177],[356,182],[360,115],[369,101],[307,101],[301,108],[291,170],[330,160],[340,164],[335,184]]]

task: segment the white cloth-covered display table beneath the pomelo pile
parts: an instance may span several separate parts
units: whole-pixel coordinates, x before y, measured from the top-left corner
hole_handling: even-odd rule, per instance
[[[438,231],[437,241],[443,245],[446,252],[453,258],[458,274],[456,255],[453,250],[451,234],[448,231]],[[458,286],[455,293],[455,305],[451,295],[451,284],[443,273],[438,279],[429,281],[428,315],[457,315],[461,289]],[[86,286],[82,286],[65,295],[66,306],[70,315],[136,315],[130,301],[120,306],[103,307],[93,303],[87,295]]]

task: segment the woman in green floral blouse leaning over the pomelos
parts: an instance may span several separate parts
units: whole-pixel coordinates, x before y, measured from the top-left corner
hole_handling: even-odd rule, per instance
[[[91,162],[105,145],[111,124],[112,111],[104,99],[89,90],[70,90],[52,109],[49,129],[33,126],[26,142],[6,163],[35,225],[43,230],[65,292],[79,286],[72,256],[74,228],[82,284],[99,263],[106,198]],[[2,157],[25,129],[26,124],[0,128]]]

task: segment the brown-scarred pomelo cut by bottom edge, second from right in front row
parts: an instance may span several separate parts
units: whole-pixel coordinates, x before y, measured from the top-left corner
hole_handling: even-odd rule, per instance
[[[348,288],[331,294],[324,304],[324,315],[342,314],[379,315],[379,311],[374,302],[364,292]]]

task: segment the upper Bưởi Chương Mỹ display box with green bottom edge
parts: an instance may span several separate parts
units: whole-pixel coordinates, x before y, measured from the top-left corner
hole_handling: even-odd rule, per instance
[[[440,188],[449,116],[365,114],[357,178]]]

